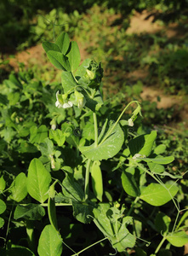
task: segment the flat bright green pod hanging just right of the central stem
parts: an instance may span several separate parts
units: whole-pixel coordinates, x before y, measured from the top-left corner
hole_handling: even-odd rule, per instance
[[[92,178],[92,188],[94,195],[102,201],[103,195],[103,182],[102,182],[102,172],[100,169],[100,161],[95,160],[91,166],[91,178]]]

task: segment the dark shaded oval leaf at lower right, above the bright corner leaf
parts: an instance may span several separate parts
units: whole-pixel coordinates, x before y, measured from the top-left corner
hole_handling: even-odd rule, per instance
[[[168,228],[171,222],[171,218],[169,218],[163,212],[158,212],[155,218],[155,226],[157,231],[162,235],[168,232]]]

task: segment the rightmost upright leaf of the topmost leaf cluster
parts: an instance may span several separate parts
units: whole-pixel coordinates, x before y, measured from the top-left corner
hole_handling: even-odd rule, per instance
[[[66,56],[69,59],[71,72],[73,73],[77,69],[81,61],[80,50],[78,48],[77,42],[72,41],[69,50],[70,51]]]

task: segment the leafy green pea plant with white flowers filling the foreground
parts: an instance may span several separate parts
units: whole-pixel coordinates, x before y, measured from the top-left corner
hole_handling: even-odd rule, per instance
[[[24,144],[33,150],[27,152],[35,153],[28,168],[20,172],[14,166],[12,183],[10,168],[1,173],[1,252],[176,252],[188,241],[188,212],[181,209],[179,193],[183,177],[168,172],[174,157],[162,156],[165,145],[156,144],[157,131],[134,129],[140,102],[120,104],[118,95],[105,100],[101,64],[92,59],[80,64],[77,43],[66,32],[54,43],[43,42],[43,49],[62,70],[61,84],[50,94],[44,88],[37,100],[43,102],[43,94],[48,95],[43,115],[51,128],[32,122],[22,135],[28,136]],[[26,96],[33,104],[28,91]]]

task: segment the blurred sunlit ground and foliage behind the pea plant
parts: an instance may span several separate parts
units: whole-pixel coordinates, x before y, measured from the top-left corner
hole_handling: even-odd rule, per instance
[[[187,0],[1,0],[0,84],[20,72],[43,86],[60,83],[42,43],[68,32],[82,60],[101,61],[105,98],[140,100],[142,124],[157,129],[182,167],[188,162],[187,15]]]

